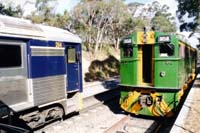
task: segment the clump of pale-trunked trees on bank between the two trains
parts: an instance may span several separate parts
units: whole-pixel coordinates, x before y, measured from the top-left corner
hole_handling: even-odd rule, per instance
[[[130,13],[122,0],[82,0],[72,16],[87,50],[96,53],[105,44],[114,44],[118,48],[124,35],[123,25]]]

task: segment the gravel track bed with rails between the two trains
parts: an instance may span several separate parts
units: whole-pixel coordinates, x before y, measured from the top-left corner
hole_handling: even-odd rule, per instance
[[[170,131],[176,116],[153,118],[129,115],[119,107],[119,90],[110,90],[84,99],[79,114],[37,130],[37,133],[152,133]],[[184,96],[186,98],[186,96]],[[184,100],[183,100],[184,102]],[[176,114],[178,115],[178,113]]]

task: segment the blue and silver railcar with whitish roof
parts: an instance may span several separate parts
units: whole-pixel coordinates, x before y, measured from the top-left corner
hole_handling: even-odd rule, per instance
[[[32,128],[81,108],[81,39],[0,15],[0,101]]]

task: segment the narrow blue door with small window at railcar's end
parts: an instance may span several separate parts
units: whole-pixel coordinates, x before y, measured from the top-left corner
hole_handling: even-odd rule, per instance
[[[67,91],[74,92],[80,90],[80,51],[78,45],[67,45],[66,67],[67,67]]]

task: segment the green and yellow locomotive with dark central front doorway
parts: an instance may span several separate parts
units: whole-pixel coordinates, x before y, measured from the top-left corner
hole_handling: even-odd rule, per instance
[[[120,106],[147,116],[173,115],[196,76],[197,50],[176,34],[135,32],[120,43]]]

